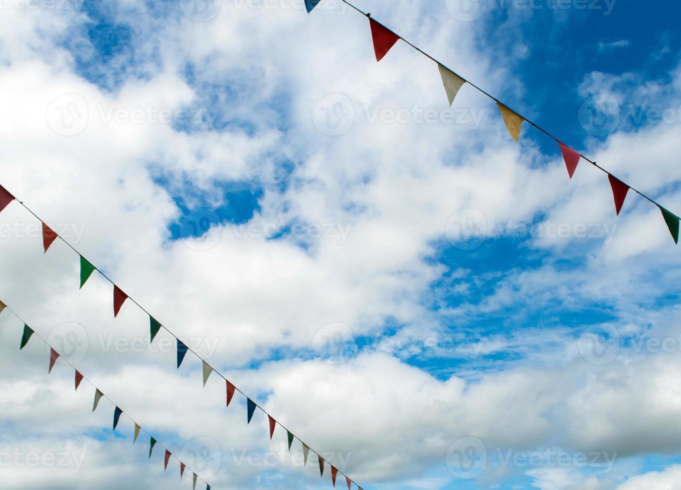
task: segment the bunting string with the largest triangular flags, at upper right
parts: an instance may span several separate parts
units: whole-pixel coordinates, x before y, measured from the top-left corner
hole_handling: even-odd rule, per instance
[[[312,12],[312,10],[320,3],[321,0],[305,0],[305,7],[308,12]],[[349,7],[353,8],[353,10],[359,12],[369,20],[369,26],[371,30],[371,37],[373,40],[373,45],[374,45],[374,52],[376,54],[376,61],[381,61],[383,57],[387,54],[387,52],[390,51],[390,49],[400,40],[406,42],[417,50],[419,53],[423,54],[426,56],[426,58],[430,59],[434,63],[437,63],[437,67],[439,69],[440,76],[442,78],[442,83],[445,87],[445,93],[447,94],[447,100],[449,101],[449,105],[451,106],[452,103],[454,103],[454,98],[456,97],[456,94],[460,90],[464,84],[469,84],[473,88],[477,89],[477,91],[483,93],[490,99],[492,99],[496,105],[499,108],[499,112],[501,112],[501,117],[504,120],[504,123],[506,125],[506,128],[509,131],[509,134],[513,138],[513,141],[518,143],[520,141],[520,131],[522,130],[522,124],[523,122],[527,122],[530,126],[535,127],[548,137],[550,137],[552,140],[554,140],[558,144],[558,148],[560,148],[560,152],[563,154],[563,160],[565,161],[565,166],[567,167],[567,173],[570,178],[575,174],[575,170],[577,169],[577,164],[580,163],[581,159],[584,159],[597,169],[603,171],[605,174],[607,174],[607,178],[610,183],[610,187],[612,189],[612,194],[614,197],[615,201],[615,211],[616,214],[619,216],[620,210],[622,210],[622,205],[624,204],[624,199],[627,197],[627,193],[629,193],[629,190],[634,191],[638,195],[644,197],[645,199],[648,199],[651,203],[653,203],[655,206],[657,206],[662,213],[663,219],[665,220],[665,224],[667,225],[667,228],[669,229],[669,233],[671,233],[671,237],[674,238],[674,242],[678,244],[679,241],[679,223],[680,223],[680,218],[673,212],[667,210],[667,208],[661,206],[658,202],[656,202],[654,199],[651,197],[648,197],[648,195],[642,193],[641,191],[638,191],[634,187],[632,187],[629,184],[626,184],[623,182],[621,179],[617,178],[613,174],[611,174],[609,171],[601,167],[601,165],[598,165],[595,161],[589,159],[588,157],[584,156],[584,154],[581,154],[580,152],[577,152],[576,150],[573,150],[571,147],[567,146],[567,144],[561,142],[558,140],[557,137],[549,133],[547,130],[543,129],[539,125],[535,124],[535,122],[532,122],[528,118],[520,115],[519,112],[516,112],[515,110],[512,110],[509,108],[508,105],[505,103],[502,103],[499,99],[488,93],[487,91],[483,90],[473,82],[470,82],[469,80],[466,80],[466,78],[463,78],[460,76],[456,71],[449,69],[443,63],[440,63],[437,61],[437,59],[434,59],[433,56],[430,56],[427,52],[424,50],[418,48],[411,42],[407,41],[404,37],[394,33],[391,29],[388,27],[385,27],[384,24],[381,24],[381,22],[378,22],[374,18],[371,17],[371,14],[364,12],[363,10],[360,10],[358,7],[355,7],[352,3],[350,3],[347,0],[341,0],[343,3],[348,5]]]

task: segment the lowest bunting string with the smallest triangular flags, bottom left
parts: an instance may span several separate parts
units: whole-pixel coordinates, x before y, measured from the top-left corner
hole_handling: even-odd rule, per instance
[[[0,313],[2,313],[3,310],[5,310],[5,309],[7,309],[7,311],[11,312],[18,319],[18,321],[20,321],[21,323],[24,324],[24,330],[23,330],[23,333],[22,333],[22,336],[21,336],[21,343],[19,345],[19,350],[23,350],[24,347],[29,343],[29,340],[31,340],[31,338],[33,338],[33,336],[42,340],[42,342],[44,342],[44,344],[50,348],[50,364],[49,364],[49,367],[48,367],[48,374],[50,374],[52,372],[52,367],[54,367],[54,363],[56,363],[57,359],[59,359],[61,357],[62,361],[64,361],[70,367],[72,367],[72,369],[75,372],[76,391],[78,391],[78,387],[80,387],[80,383],[82,381],[89,383],[89,385],[91,385],[91,387],[93,387],[95,389],[95,401],[93,402],[92,411],[94,412],[95,410],[97,410],[97,407],[99,406],[99,402],[102,398],[108,399],[108,401],[111,402],[111,404],[114,406],[114,423],[113,423],[113,429],[112,430],[115,431],[116,427],[118,427],[118,421],[121,420],[121,415],[127,416],[127,418],[130,419],[130,421],[135,425],[135,435],[133,437],[132,443],[135,444],[137,442],[138,437],[140,436],[140,432],[144,432],[144,434],[149,436],[149,459],[151,459],[151,453],[153,452],[154,447],[157,446],[157,445],[161,446],[161,448],[163,448],[165,450],[165,456],[163,457],[163,471],[165,472],[166,470],[168,470],[168,462],[170,461],[170,458],[172,457],[172,458],[176,459],[176,461],[178,461],[178,463],[180,463],[180,480],[182,480],[183,476],[185,475],[185,469],[187,468],[187,465],[180,458],[178,458],[174,453],[172,453],[170,451],[170,449],[168,449],[161,442],[159,442],[156,438],[154,438],[154,436],[152,436],[146,429],[144,429],[144,427],[142,427],[142,425],[137,423],[135,421],[135,419],[133,419],[127,412],[124,412],[121,408],[118,408],[118,404],[116,404],[112,399],[110,399],[110,397],[105,395],[99,388],[97,388],[97,386],[95,386],[95,384],[93,382],[91,382],[91,380],[86,378],[80,371],[78,371],[78,369],[76,369],[76,367],[72,363],[69,363],[69,361],[67,361],[67,359],[65,359],[65,357],[63,357],[59,353],[59,351],[57,351],[54,347],[52,347],[49,344],[49,342],[47,342],[47,340],[42,338],[38,333],[35,333],[35,330],[33,330],[31,327],[29,327],[29,325],[18,314],[16,314],[16,312],[14,310],[12,310],[12,308],[10,308],[5,303],[3,303],[3,301],[0,301]],[[191,468],[190,468],[190,471],[191,471]],[[201,480],[203,483],[206,483],[206,490],[210,490],[210,488],[211,488],[210,484],[208,482],[206,482],[206,480],[204,480],[203,478],[199,478],[199,476],[193,471],[191,471],[191,473],[192,473],[192,488],[193,489],[196,489],[197,480]]]

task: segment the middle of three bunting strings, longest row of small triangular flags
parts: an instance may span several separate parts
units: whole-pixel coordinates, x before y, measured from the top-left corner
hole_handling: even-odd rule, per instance
[[[0,184],[0,212],[2,212],[12,201],[14,201],[16,197],[12,195],[5,187],[3,187]],[[210,374],[215,372],[218,376],[223,378],[225,380],[225,385],[227,389],[227,407],[229,407],[229,404],[232,402],[232,398],[234,397],[235,393],[240,393],[243,395],[246,400],[247,400],[247,424],[251,423],[251,419],[253,419],[253,414],[255,414],[255,409],[261,410],[264,414],[267,415],[268,417],[268,422],[269,422],[269,427],[270,427],[270,440],[272,440],[272,437],[274,436],[274,429],[276,428],[277,425],[279,425],[283,430],[286,431],[287,433],[287,439],[288,439],[288,445],[289,445],[289,451],[291,451],[291,446],[294,442],[294,440],[298,439],[300,443],[302,444],[302,450],[303,450],[303,457],[304,457],[304,465],[307,464],[307,459],[308,459],[308,454],[312,451],[317,455],[317,459],[319,461],[319,472],[321,476],[323,477],[324,475],[324,468],[325,465],[328,465],[331,468],[331,480],[333,483],[333,486],[336,487],[336,478],[338,476],[338,473],[340,473],[342,476],[345,477],[345,483],[347,484],[347,489],[351,490],[351,486],[355,485],[357,487],[357,490],[362,490],[362,487],[358,485],[358,483],[355,483],[354,480],[352,480],[349,476],[338,470],[334,465],[332,465],[329,461],[327,461],[319,452],[311,450],[311,447],[308,446],[308,444],[305,444],[298,436],[294,436],[294,433],[291,432],[287,427],[285,427],[282,423],[274,419],[262,406],[259,406],[253,399],[251,399],[246,393],[238,389],[232,382],[230,382],[221,372],[218,370],[215,370],[214,367],[212,367],[210,364],[208,364],[200,355],[198,355],[194,350],[191,349],[191,347],[187,346],[184,342],[182,342],[178,336],[176,336],[168,327],[163,325],[161,322],[159,322],[151,313],[149,313],[141,304],[138,303],[135,299],[129,297],[123,289],[118,287],[116,283],[111,280],[104,272],[101,271],[101,269],[95,267],[93,263],[85,259],[83,255],[76,250],[76,248],[72,245],[69,244],[64,238],[61,237],[56,231],[52,230],[44,220],[39,218],[37,214],[35,214],[28,206],[25,205],[22,201],[19,199],[16,199],[16,201],[23,207],[25,210],[27,210],[29,213],[31,213],[37,220],[39,220],[42,223],[42,235],[43,235],[43,248],[44,252],[46,253],[48,251],[48,248],[52,246],[52,243],[54,243],[54,240],[61,240],[64,242],[69,248],[74,250],[78,254],[78,257],[80,258],[80,287],[79,289],[82,289],[84,284],[87,282],[87,280],[90,278],[90,276],[93,274],[93,272],[97,271],[99,274],[108,280],[114,287],[113,291],[113,305],[114,305],[114,318],[118,316],[118,312],[121,311],[121,307],[125,303],[126,299],[129,299],[133,304],[138,306],[142,312],[144,312],[148,317],[149,317],[149,330],[150,330],[150,335],[151,335],[151,340],[150,342],[154,341],[154,338],[156,337],[157,333],[161,329],[164,329],[170,336],[175,338],[176,340],[176,348],[177,348],[177,368],[180,368],[180,365],[182,365],[183,360],[185,359],[185,355],[187,355],[187,352],[193,353],[200,361],[202,361],[202,371],[203,371],[203,382],[204,382],[204,387],[206,386],[206,382],[208,382],[208,378]],[[9,309],[9,308],[8,308]],[[0,309],[1,311],[1,309]],[[16,315],[16,314],[15,314]],[[18,317],[18,316],[17,316]],[[31,337],[31,333],[29,333],[28,338]],[[27,338],[27,340],[28,340]],[[24,344],[22,340],[22,344]],[[55,358],[56,359],[56,358]],[[50,361],[52,363],[52,361]],[[51,366],[50,366],[51,370]],[[96,404],[95,404],[96,408]]]

